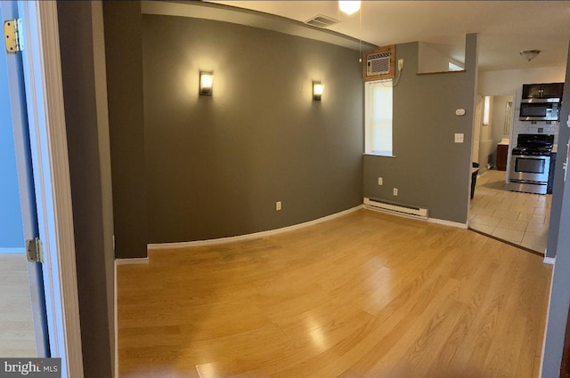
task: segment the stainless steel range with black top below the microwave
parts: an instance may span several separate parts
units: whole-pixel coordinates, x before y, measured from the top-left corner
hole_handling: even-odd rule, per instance
[[[546,194],[553,145],[554,135],[518,135],[510,160],[510,190]]]

